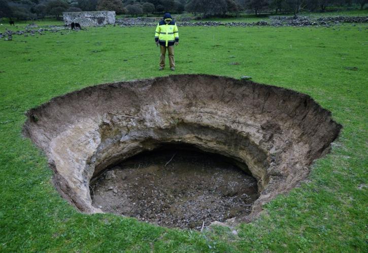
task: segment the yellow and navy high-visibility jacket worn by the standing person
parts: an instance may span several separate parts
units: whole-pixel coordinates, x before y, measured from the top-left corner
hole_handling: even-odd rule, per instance
[[[179,32],[175,21],[172,20],[169,24],[161,20],[156,27],[155,40],[161,46],[173,46],[175,42],[179,42]]]

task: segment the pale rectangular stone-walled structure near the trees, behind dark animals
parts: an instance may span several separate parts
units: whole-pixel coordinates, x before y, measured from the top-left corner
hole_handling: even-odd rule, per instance
[[[72,22],[83,26],[98,26],[106,24],[115,24],[115,12],[63,12],[64,24],[70,25]]]

